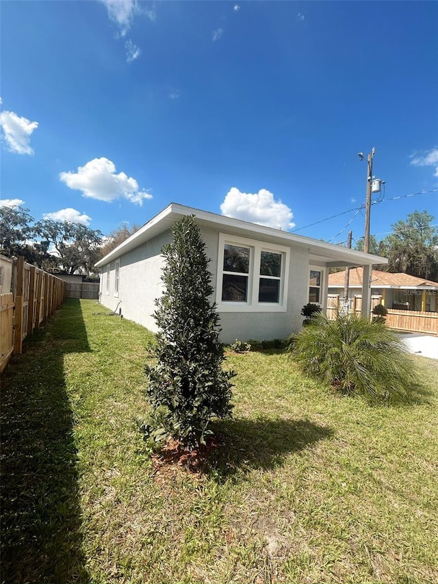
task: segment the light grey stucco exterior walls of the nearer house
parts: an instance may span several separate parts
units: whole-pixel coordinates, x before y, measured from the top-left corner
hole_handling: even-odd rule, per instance
[[[220,229],[201,227],[201,235],[206,246],[207,256],[211,259],[209,271],[215,291],[218,274],[218,252]],[[125,318],[138,322],[150,331],[156,332],[153,312],[155,299],[162,293],[160,279],[164,259],[160,255],[162,246],[171,240],[170,231],[138,246],[120,257],[120,277],[118,296],[114,296],[116,262],[110,264],[110,288],[107,290],[107,266],[101,272],[101,303],[117,312],[121,309]],[[222,266],[219,266],[221,269]],[[286,338],[300,329],[300,311],[309,296],[309,254],[305,249],[292,247],[289,254],[289,274],[287,279],[287,303],[285,312],[221,312],[220,327],[222,342],[257,339],[271,340]]]

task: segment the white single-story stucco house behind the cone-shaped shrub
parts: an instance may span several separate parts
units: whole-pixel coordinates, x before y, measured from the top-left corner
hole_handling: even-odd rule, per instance
[[[194,214],[211,258],[214,298],[222,342],[236,338],[286,338],[300,329],[309,301],[325,307],[329,268],[387,260],[255,223],[171,203],[96,264],[101,270],[100,302],[125,318],[156,331],[155,299],[163,290],[164,258],[176,220]],[[368,279],[365,279],[368,282]],[[362,290],[364,306],[370,288]]]

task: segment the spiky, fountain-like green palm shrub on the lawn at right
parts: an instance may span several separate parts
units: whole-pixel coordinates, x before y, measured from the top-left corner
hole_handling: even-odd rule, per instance
[[[381,320],[355,315],[326,320],[320,315],[289,339],[288,350],[302,370],[342,394],[400,401],[417,385],[406,349]]]

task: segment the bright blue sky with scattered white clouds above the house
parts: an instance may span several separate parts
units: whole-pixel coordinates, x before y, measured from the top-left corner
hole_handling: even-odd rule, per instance
[[[438,223],[438,3],[3,1],[1,193],[110,233],[171,201],[363,236],[365,156]],[[414,194],[414,196],[405,196]],[[331,220],[306,227],[329,216]],[[305,229],[303,229],[305,227]]]

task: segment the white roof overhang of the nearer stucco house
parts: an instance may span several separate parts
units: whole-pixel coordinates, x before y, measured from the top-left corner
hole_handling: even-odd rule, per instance
[[[378,255],[371,255],[370,253],[363,253],[362,251],[348,249],[324,241],[298,236],[288,231],[274,229],[273,227],[256,225],[248,221],[233,219],[192,207],[185,207],[185,205],[179,205],[178,203],[170,203],[166,209],[162,210],[162,212],[153,217],[148,223],[140,227],[131,237],[99,260],[96,263],[96,268],[105,266],[105,264],[112,262],[112,260],[120,257],[120,255],[124,255],[140,244],[159,235],[159,233],[170,229],[175,221],[186,215],[196,216],[196,221],[200,227],[213,227],[220,231],[226,231],[229,235],[257,239],[279,245],[294,245],[301,249],[307,249],[309,251],[309,262],[315,265],[321,264],[328,267],[339,267],[372,266],[373,264],[388,263],[385,257],[379,257]]]

